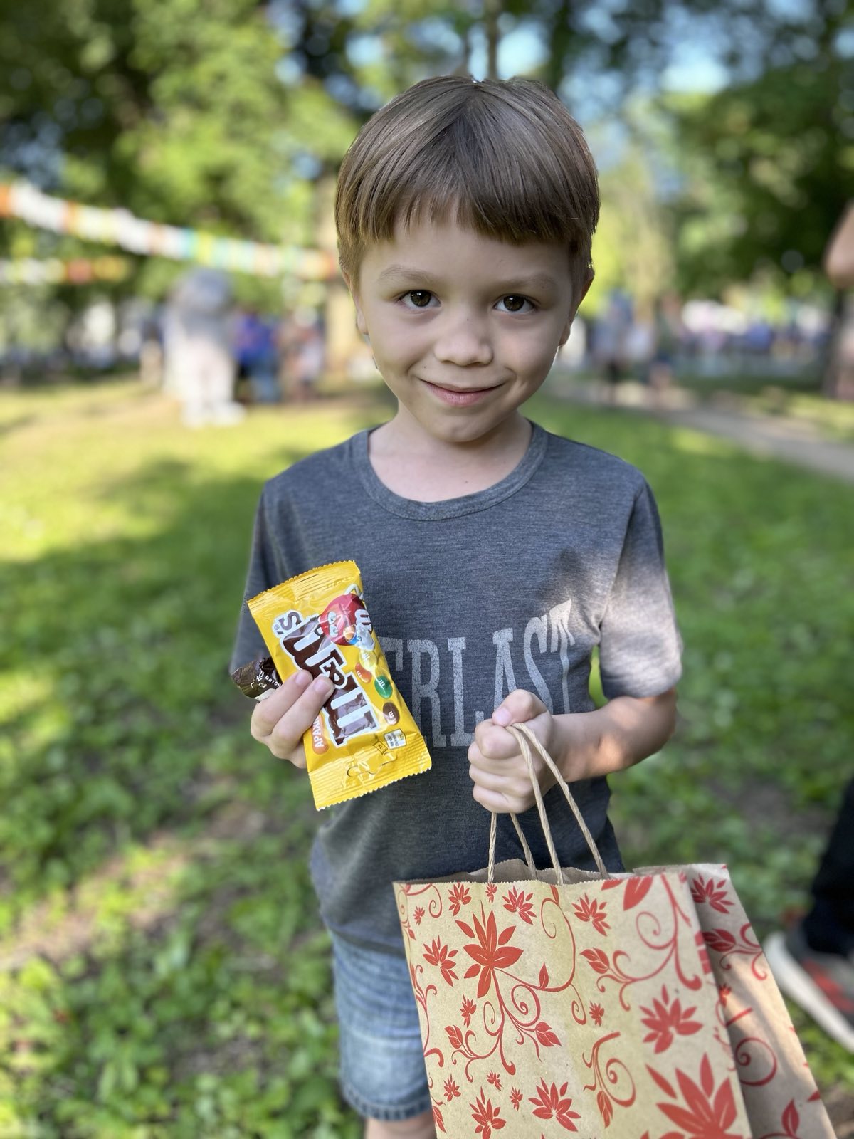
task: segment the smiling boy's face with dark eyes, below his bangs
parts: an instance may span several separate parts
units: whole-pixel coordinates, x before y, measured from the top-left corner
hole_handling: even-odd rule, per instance
[[[508,245],[454,222],[399,226],[348,284],[401,413],[446,443],[475,442],[515,418],[581,301],[563,247]]]

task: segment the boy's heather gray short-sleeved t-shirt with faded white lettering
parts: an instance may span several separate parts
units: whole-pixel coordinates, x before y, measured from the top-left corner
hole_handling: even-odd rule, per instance
[[[352,558],[361,570],[373,628],[433,768],[323,811],[311,870],[330,928],[402,954],[392,882],[486,865],[490,816],[468,773],[475,724],[515,688],[555,714],[591,711],[594,646],[606,696],[658,695],[680,677],[680,639],[658,513],[634,467],[535,425],[500,483],[414,502],[379,481],[368,435],[302,459],[264,486],[245,596],[327,562]],[[231,667],[261,654],[244,605]],[[621,869],[607,780],[573,792],[606,863]],[[561,863],[593,869],[558,788],[545,803]],[[550,866],[536,810],[520,822],[537,867]],[[496,858],[518,857],[500,816]]]

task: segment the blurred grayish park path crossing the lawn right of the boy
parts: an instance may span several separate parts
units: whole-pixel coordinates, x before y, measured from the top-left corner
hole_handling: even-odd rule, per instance
[[[637,391],[635,391],[637,388]],[[570,402],[610,405],[602,385],[564,377],[553,383],[550,394]],[[666,423],[690,427],[732,440],[738,446],[763,458],[781,459],[815,470],[831,478],[854,483],[854,444],[827,439],[810,423],[785,415],[758,415],[737,407],[706,405],[679,390],[675,399],[660,408],[640,402],[643,388],[621,385],[621,410],[655,416]]]

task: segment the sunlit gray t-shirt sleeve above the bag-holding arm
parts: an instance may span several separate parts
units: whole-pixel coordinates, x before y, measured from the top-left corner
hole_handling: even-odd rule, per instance
[[[658,509],[644,482],[635,495],[619,563],[600,624],[602,691],[658,696],[682,674]]]

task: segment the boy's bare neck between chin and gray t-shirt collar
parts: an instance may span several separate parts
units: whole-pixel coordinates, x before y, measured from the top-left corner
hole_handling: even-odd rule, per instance
[[[368,453],[388,490],[417,502],[441,502],[485,491],[522,461],[531,424],[518,412],[487,436],[451,443],[427,434],[405,409],[371,432]]]

